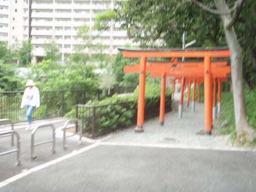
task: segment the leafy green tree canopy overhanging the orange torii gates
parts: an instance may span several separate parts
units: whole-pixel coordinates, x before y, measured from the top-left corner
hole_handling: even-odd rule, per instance
[[[200,1],[215,7],[214,1]],[[232,7],[234,1],[228,1]],[[251,87],[256,85],[256,1],[245,1],[241,15],[234,25],[242,47],[243,73]],[[226,45],[220,16],[211,14],[187,0],[129,0],[117,1],[115,9],[100,13],[97,28],[110,27],[111,19],[122,23],[127,35],[141,47],[154,47],[162,40],[162,47],[181,47],[182,34],[186,42],[196,39],[195,47]],[[157,44],[159,45],[159,43]],[[156,47],[156,46],[155,46]]]

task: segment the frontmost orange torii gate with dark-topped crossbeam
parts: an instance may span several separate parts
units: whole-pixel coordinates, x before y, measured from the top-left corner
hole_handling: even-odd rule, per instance
[[[211,67],[211,58],[229,57],[230,52],[227,47],[218,49],[164,49],[164,50],[149,50],[149,49],[130,49],[130,48],[119,48],[123,52],[123,57],[140,58],[139,68],[139,98],[138,98],[138,116],[137,116],[137,127],[135,132],[143,132],[144,124],[144,98],[145,98],[145,72],[146,72],[146,58],[204,58],[203,71],[198,73],[190,73],[191,78],[204,77],[204,106],[205,106],[205,135],[211,135],[212,127],[212,78],[218,78],[218,76],[212,76],[212,71],[215,71]],[[165,71],[165,70],[164,70]],[[218,71],[219,72],[219,71]],[[156,71],[155,71],[156,73]],[[161,75],[165,76],[168,73],[160,71]],[[176,72],[177,73],[177,72]],[[183,76],[182,76],[183,75]],[[192,76],[194,75],[194,76]],[[225,73],[220,74],[225,76]],[[189,72],[184,74],[177,74],[175,78],[189,77]],[[221,77],[222,78],[222,77]]]

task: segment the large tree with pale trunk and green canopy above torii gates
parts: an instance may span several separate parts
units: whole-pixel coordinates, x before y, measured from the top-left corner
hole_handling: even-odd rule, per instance
[[[210,15],[205,10],[199,9],[198,5],[193,2],[207,11],[214,10],[211,7],[217,7],[217,10],[214,10],[214,12],[220,14],[221,17]],[[207,6],[203,3],[207,3]],[[160,39],[163,40],[164,46],[181,47],[181,35],[184,31],[187,31],[188,41],[197,39],[196,46],[198,47],[222,46],[227,44],[231,52],[231,76],[232,80],[236,82],[233,83],[233,97],[237,133],[239,135],[252,135],[253,131],[246,121],[242,83],[243,52],[241,51],[239,41],[243,42],[241,43],[244,50],[243,57],[250,56],[251,62],[255,62],[255,30],[253,29],[255,28],[256,6],[255,1],[249,0],[246,2],[247,9],[242,9],[244,3],[244,0],[228,1],[228,4],[225,0],[203,0],[200,2],[197,0],[121,1],[117,3],[117,8],[114,10],[115,14],[112,14],[111,19],[122,22],[122,27],[127,30],[129,37],[140,42],[142,46],[148,46],[152,42]],[[233,7],[229,9],[232,5]],[[239,17],[240,13],[244,16]],[[105,16],[104,18],[108,17]],[[241,18],[247,24],[243,24],[240,21]],[[98,24],[102,25],[104,29],[111,25],[110,19],[102,19],[102,22],[98,22]],[[236,31],[234,31],[236,28],[235,24],[239,29],[238,38]],[[238,24],[240,25],[238,26]],[[250,69],[250,72],[246,71],[246,74],[249,74],[251,78],[253,77],[251,74],[255,74],[255,71]],[[250,81],[251,83],[252,79]]]

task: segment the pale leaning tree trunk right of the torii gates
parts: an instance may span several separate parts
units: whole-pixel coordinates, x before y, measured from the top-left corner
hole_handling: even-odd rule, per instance
[[[225,0],[215,0],[215,5],[217,9],[221,12],[228,12],[228,6]],[[239,136],[246,135],[247,137],[252,138],[254,131],[249,126],[246,120],[241,48],[238,42],[236,32],[234,31],[234,27],[229,26],[232,20],[230,13],[221,15],[221,18],[224,24],[227,45],[230,50],[231,78],[233,88],[234,115],[236,119],[236,131]]]

